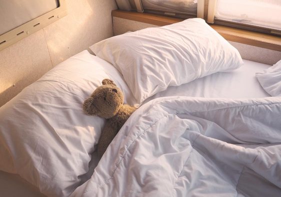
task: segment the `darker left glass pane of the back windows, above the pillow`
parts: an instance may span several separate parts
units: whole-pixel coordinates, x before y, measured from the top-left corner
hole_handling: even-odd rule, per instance
[[[197,13],[197,0],[141,0],[144,10]]]

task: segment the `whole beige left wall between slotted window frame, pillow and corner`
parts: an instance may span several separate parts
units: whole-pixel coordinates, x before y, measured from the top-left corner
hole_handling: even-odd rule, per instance
[[[115,0],[65,2],[66,16],[0,51],[0,106],[56,64],[113,35]]]

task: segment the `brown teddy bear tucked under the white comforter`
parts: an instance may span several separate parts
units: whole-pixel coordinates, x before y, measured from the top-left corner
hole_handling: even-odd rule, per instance
[[[122,91],[110,79],[103,79],[102,85],[84,101],[83,110],[86,114],[106,119],[97,144],[99,157],[103,155],[120,128],[136,110],[134,107],[124,105],[123,102]]]

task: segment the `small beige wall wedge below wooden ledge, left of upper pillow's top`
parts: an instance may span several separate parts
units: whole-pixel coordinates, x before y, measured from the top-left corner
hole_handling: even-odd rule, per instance
[[[147,27],[157,27],[157,25],[128,20],[119,17],[113,17],[113,32],[114,35],[120,35],[127,31],[137,31]]]

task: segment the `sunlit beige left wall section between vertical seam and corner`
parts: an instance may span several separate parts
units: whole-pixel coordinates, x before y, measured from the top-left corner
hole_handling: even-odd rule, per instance
[[[54,66],[113,35],[115,0],[66,0],[66,6],[66,16],[43,28]]]

